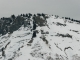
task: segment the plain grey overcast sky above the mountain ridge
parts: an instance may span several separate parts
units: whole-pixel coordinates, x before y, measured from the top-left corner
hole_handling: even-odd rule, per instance
[[[0,17],[46,13],[80,20],[80,0],[0,0]]]

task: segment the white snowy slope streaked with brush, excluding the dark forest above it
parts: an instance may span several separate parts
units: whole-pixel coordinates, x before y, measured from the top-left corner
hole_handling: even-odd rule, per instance
[[[28,27],[1,36],[0,60],[80,60],[80,24],[55,16],[46,21],[31,43],[32,19]]]

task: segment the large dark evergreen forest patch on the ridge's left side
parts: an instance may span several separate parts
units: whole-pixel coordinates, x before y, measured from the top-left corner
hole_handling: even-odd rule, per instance
[[[11,17],[2,17],[0,19],[0,34],[4,35],[8,32],[13,33],[13,31],[18,30],[25,21],[25,17],[30,19],[32,16],[31,13],[21,14],[15,16],[14,14]]]

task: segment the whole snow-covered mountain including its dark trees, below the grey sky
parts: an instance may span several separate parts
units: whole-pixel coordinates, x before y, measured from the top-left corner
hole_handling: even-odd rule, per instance
[[[80,60],[80,21],[21,14],[0,19],[0,60]]]

